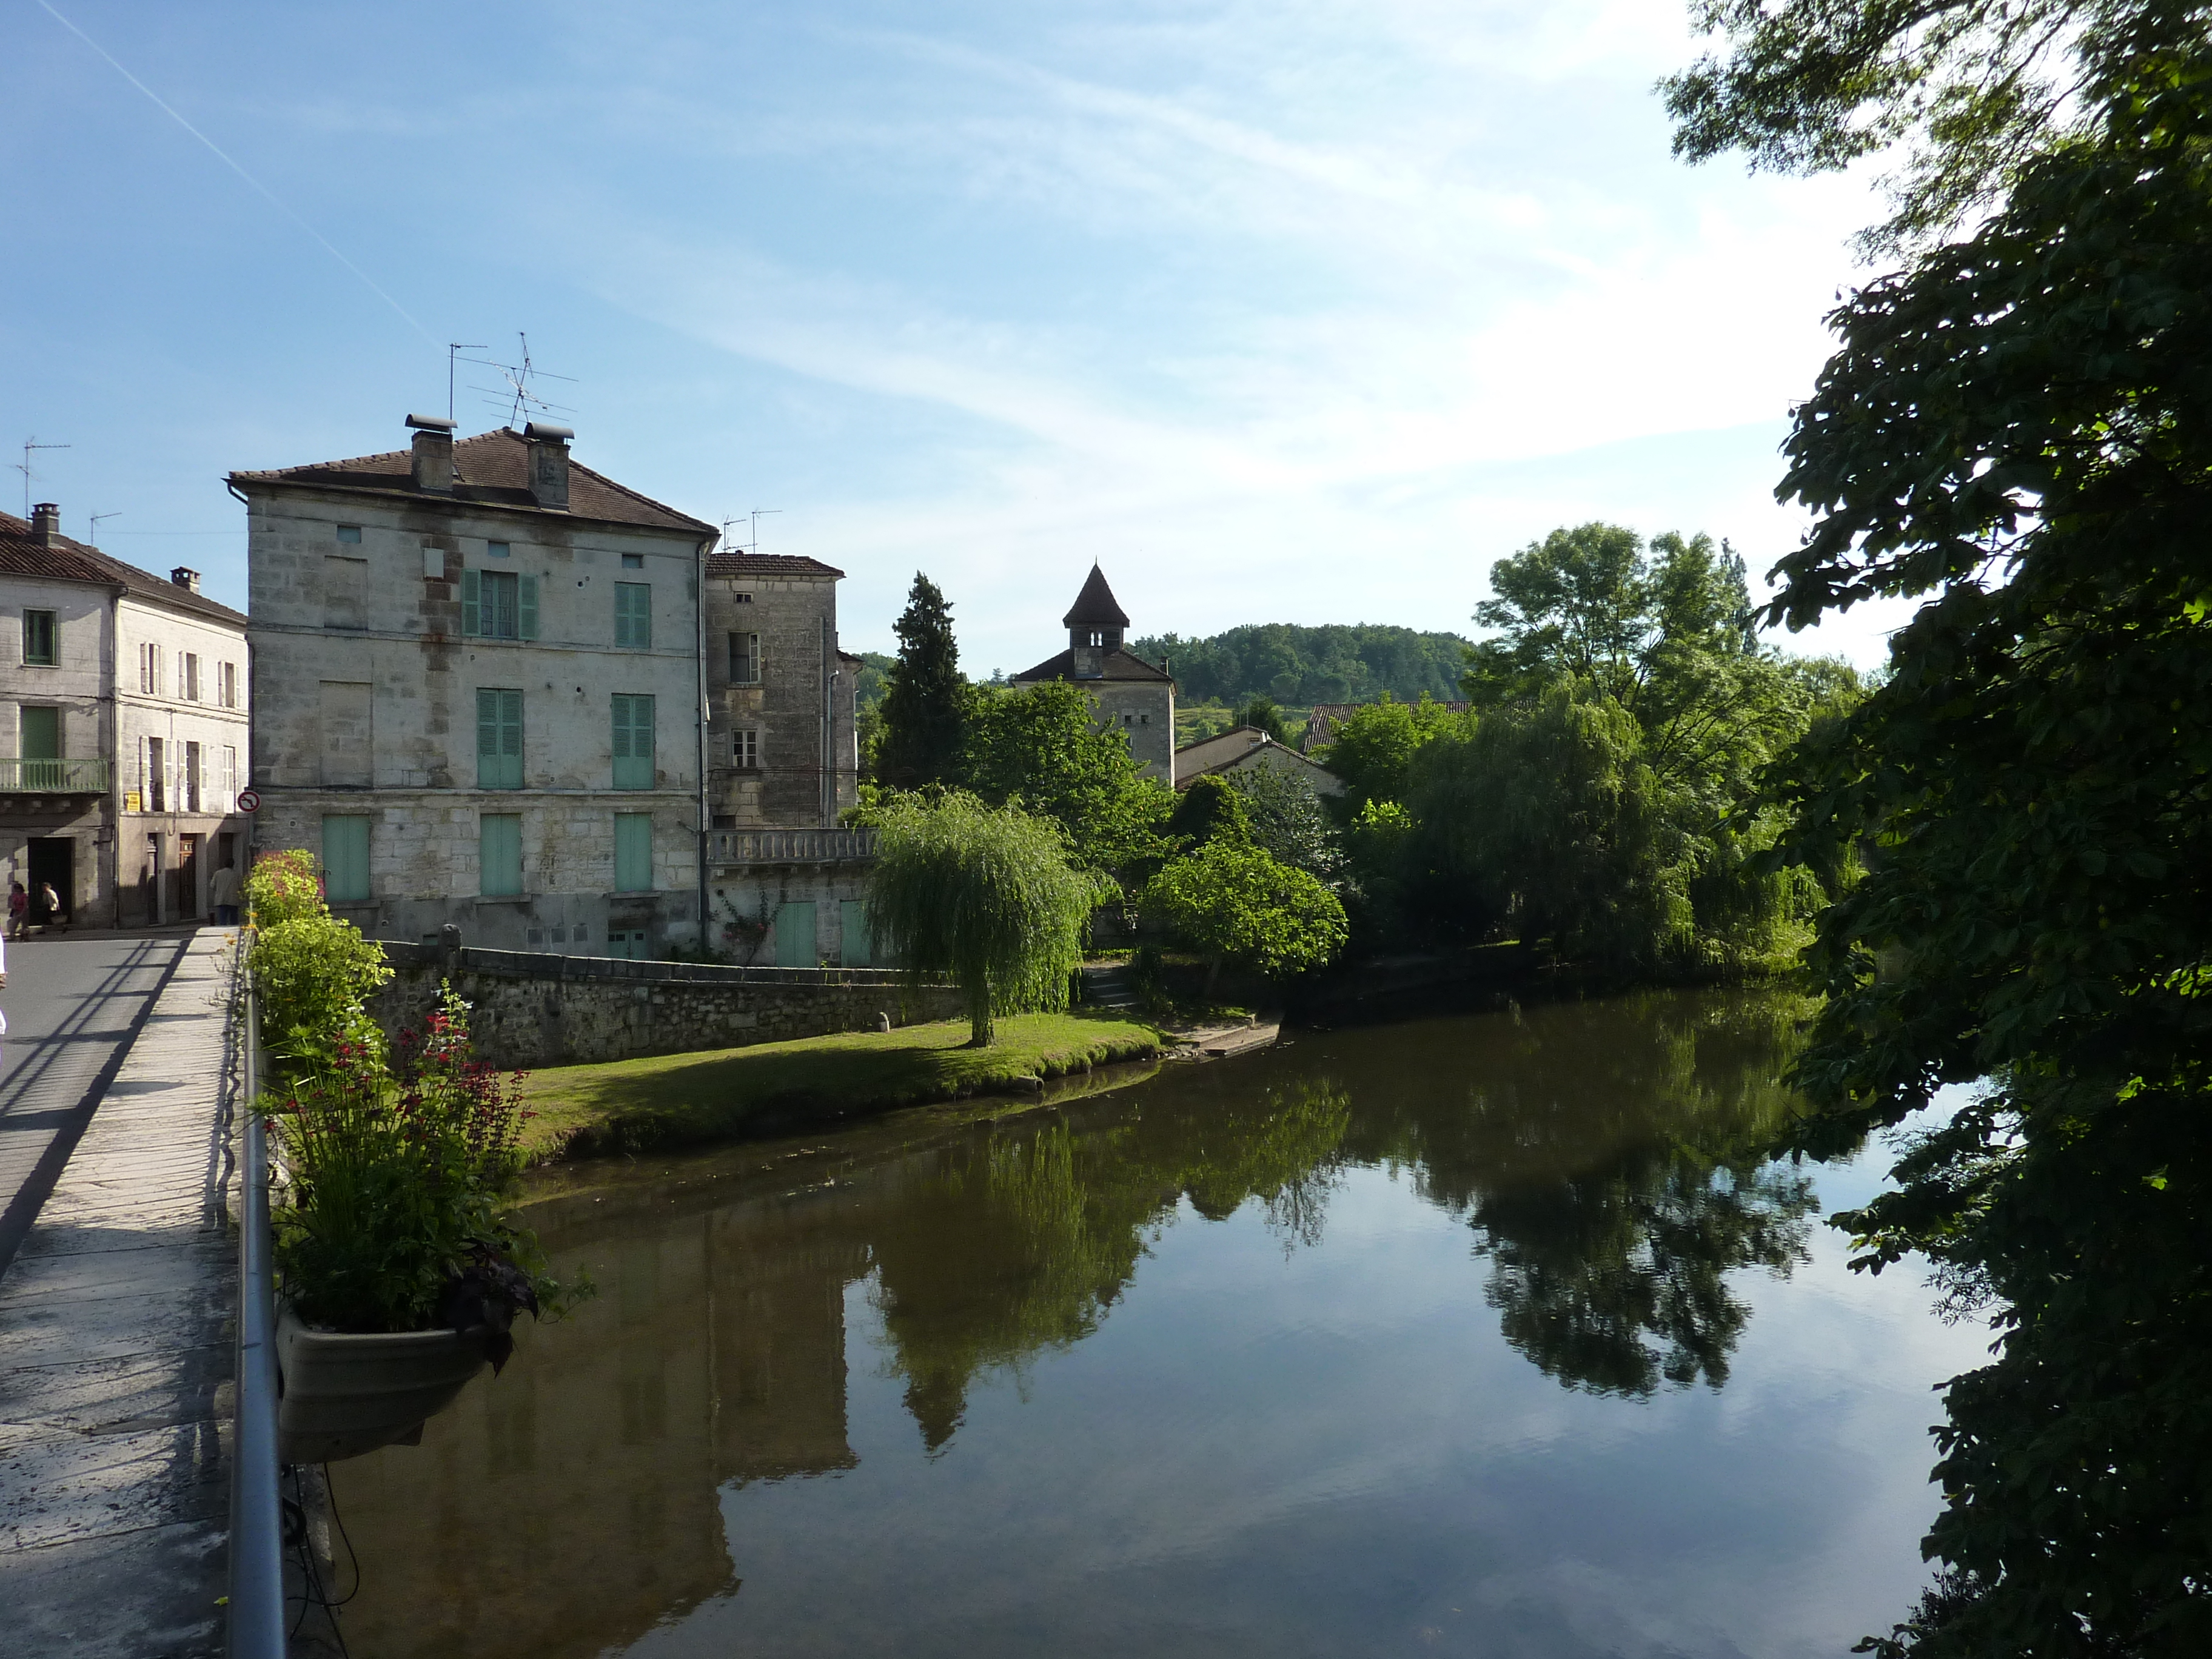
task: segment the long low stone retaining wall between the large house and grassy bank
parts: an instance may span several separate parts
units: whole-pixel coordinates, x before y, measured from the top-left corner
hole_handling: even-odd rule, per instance
[[[420,1029],[451,978],[473,1009],[476,1051],[493,1066],[568,1066],[692,1048],[958,1020],[949,984],[914,989],[883,969],[697,967],[535,951],[385,945],[387,984],[369,1004],[387,1035]]]

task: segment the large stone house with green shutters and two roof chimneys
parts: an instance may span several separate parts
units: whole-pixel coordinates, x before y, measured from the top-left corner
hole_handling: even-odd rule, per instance
[[[257,843],[374,938],[586,956],[699,940],[699,573],[717,533],[566,427],[239,471]]]

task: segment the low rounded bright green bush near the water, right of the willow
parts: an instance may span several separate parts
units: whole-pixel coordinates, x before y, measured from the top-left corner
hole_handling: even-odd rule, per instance
[[[1144,907],[1217,971],[1237,962],[1270,980],[1325,967],[1347,938],[1336,894],[1225,836],[1152,876]]]

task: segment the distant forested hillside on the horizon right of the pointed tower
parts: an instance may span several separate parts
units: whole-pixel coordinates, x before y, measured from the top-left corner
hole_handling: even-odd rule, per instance
[[[1413,701],[1460,695],[1467,641],[1378,624],[1298,628],[1256,622],[1212,639],[1146,635],[1130,644],[1146,661],[1168,659],[1183,701],[1365,703],[1383,692]]]

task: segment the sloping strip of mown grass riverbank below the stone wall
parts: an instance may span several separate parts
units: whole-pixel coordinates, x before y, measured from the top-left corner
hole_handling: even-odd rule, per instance
[[[790,1133],[967,1095],[1026,1093],[1051,1077],[1148,1060],[1161,1035],[1135,1020],[1018,1013],[998,1042],[969,1048],[964,1020],[845,1031],[748,1048],[553,1066],[531,1073],[533,1164],[708,1146]]]

